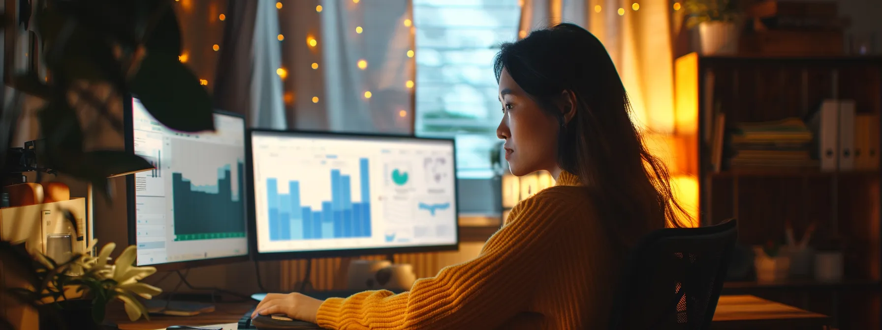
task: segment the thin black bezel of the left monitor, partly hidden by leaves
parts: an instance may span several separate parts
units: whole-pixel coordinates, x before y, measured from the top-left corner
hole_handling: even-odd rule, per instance
[[[134,145],[135,136],[134,136],[134,122],[133,122],[133,120],[134,120],[133,110],[134,109],[132,108],[132,99],[138,99],[138,97],[135,95],[127,95],[124,99],[124,102],[123,102],[123,124],[124,124],[123,130],[125,133],[125,151],[129,152],[131,154],[134,154],[135,153],[135,145]],[[237,113],[218,110],[218,109],[213,110],[213,114],[223,114],[223,115],[228,115],[231,117],[236,117],[236,118],[242,119],[243,124],[244,124],[244,128],[245,128],[245,136],[243,136],[243,137],[244,138],[248,137],[248,122],[246,121],[246,118],[243,114],[237,114]],[[243,142],[245,143],[245,147],[246,147],[245,148],[245,151],[246,151],[245,156],[247,158],[247,156],[248,156],[247,155],[248,142],[246,141],[246,139],[243,139]],[[247,160],[246,160],[245,167],[246,168],[248,167]],[[181,269],[186,269],[186,268],[198,268],[198,267],[225,265],[225,264],[230,264],[230,263],[235,263],[235,262],[249,261],[251,251],[250,251],[250,233],[248,232],[249,231],[249,225],[248,225],[248,222],[249,222],[249,220],[248,220],[249,219],[249,214],[248,214],[249,197],[248,196],[250,195],[248,187],[250,187],[250,185],[248,183],[248,177],[249,177],[248,171],[246,170],[243,174],[245,176],[245,178],[243,178],[243,182],[245,182],[245,188],[243,189],[243,194],[246,195],[246,196],[243,196],[244,197],[243,202],[245,203],[245,213],[243,214],[243,216],[245,217],[245,238],[247,241],[247,243],[245,245],[246,252],[243,255],[210,258],[210,259],[172,261],[172,262],[156,263],[156,264],[141,265],[141,266],[153,267],[153,268],[156,268],[157,271],[163,272],[163,271],[181,270]],[[125,176],[125,194],[126,194],[126,212],[127,212],[126,217],[128,219],[128,226],[127,226],[128,232],[127,232],[127,234],[129,237],[129,245],[137,246],[138,245],[138,238],[135,235],[136,220],[137,220],[136,216],[135,216],[135,213],[136,213],[135,212],[135,209],[136,209],[135,208],[135,174],[129,174],[129,175]],[[137,262],[137,260],[136,260],[136,262]]]

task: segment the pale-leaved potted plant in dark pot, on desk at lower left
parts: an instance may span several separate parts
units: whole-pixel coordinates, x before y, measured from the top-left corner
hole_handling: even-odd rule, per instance
[[[135,246],[128,246],[115,263],[108,263],[115,248],[114,243],[108,243],[97,257],[76,254],[64,262],[39,254],[34,262],[34,274],[40,285],[12,288],[11,294],[20,301],[47,306],[58,313],[56,318],[41,315],[41,329],[64,325],[98,328],[104,321],[107,305],[114,300],[123,303],[132,321],[141,316],[149,319],[138,297],[150,299],[162,290],[138,281],[153,275],[156,268],[132,266]]]

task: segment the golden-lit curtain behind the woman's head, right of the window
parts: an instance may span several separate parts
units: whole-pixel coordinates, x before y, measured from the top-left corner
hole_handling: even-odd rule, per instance
[[[616,63],[634,121],[640,128],[670,134],[675,127],[668,7],[663,1],[524,0],[520,31],[569,22],[594,33]]]

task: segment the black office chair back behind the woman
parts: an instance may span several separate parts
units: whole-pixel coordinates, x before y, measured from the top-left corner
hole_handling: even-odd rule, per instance
[[[624,265],[609,328],[709,329],[737,236],[735,219],[647,235]]]

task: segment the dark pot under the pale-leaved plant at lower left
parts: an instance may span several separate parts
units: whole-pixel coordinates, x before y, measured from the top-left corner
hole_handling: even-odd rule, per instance
[[[40,313],[40,330],[101,329],[92,318],[92,300],[64,300],[48,304],[46,307],[49,311],[41,311]]]

